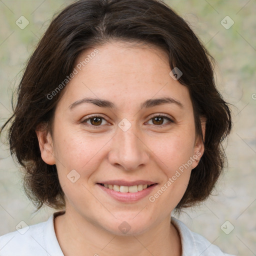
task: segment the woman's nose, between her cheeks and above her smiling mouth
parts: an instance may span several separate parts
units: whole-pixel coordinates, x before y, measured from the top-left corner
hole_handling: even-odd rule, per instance
[[[149,161],[149,148],[143,141],[141,132],[133,128],[123,131],[117,127],[116,135],[112,138],[111,149],[108,153],[110,164],[124,170],[134,170]]]

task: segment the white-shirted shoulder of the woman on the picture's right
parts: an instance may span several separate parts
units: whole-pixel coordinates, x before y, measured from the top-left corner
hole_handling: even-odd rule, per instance
[[[202,235],[191,231],[182,221],[171,217],[171,222],[179,231],[182,256],[234,256],[224,253]]]

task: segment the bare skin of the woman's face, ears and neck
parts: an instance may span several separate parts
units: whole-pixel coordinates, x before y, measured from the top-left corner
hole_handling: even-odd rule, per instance
[[[51,132],[37,131],[41,157],[56,164],[65,194],[65,214],[54,223],[60,247],[65,256],[181,255],[170,216],[199,157],[154,202],[148,197],[189,157],[203,154],[188,89],[169,75],[168,56],[155,46],[111,41],[97,48],[64,88]],[[82,52],[76,64],[92,51]],[[145,100],[166,96],[182,107],[165,103],[140,109]],[[112,101],[116,109],[92,103],[69,108],[85,97]],[[95,125],[89,114],[103,117],[101,123]],[[152,114],[173,122],[165,117],[153,122]],[[131,124],[126,131],[118,127],[123,118]],[[74,183],[67,178],[72,169],[80,175]],[[109,179],[145,179],[157,185],[136,202],[120,202],[96,185]],[[118,228],[123,221],[131,227],[126,234]]]

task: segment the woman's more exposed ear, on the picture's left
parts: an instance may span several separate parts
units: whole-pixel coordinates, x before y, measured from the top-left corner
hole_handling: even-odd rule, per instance
[[[36,135],[39,143],[39,148],[41,151],[41,157],[43,161],[47,164],[55,164],[54,150],[52,137],[49,131],[45,128],[45,125],[39,124],[36,127]]]

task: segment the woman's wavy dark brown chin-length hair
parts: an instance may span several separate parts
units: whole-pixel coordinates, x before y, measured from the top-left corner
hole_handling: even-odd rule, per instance
[[[150,43],[167,52],[170,68],[183,73],[178,80],[189,90],[201,138],[200,117],[206,118],[204,153],[176,209],[206,199],[223,170],[221,141],[231,129],[230,110],[215,86],[213,58],[188,24],[160,0],[79,0],[52,20],[39,41],[19,83],[14,113],[2,126],[12,120],[10,151],[24,167],[25,191],[38,209],[65,205],[56,166],[42,160],[35,133],[40,123],[50,129],[63,89],[51,99],[47,95],[72,72],[79,53],[115,39]]]

